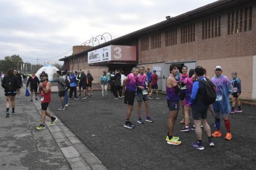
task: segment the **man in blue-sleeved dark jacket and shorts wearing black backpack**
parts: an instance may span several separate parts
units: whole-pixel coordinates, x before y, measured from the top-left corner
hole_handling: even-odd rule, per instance
[[[211,129],[207,123],[207,110],[209,105],[206,105],[203,101],[203,95],[205,94],[205,84],[200,82],[207,81],[207,79],[203,76],[203,67],[197,66],[195,68],[195,76],[198,81],[195,81],[193,84],[192,93],[189,100],[189,103],[192,107],[192,117],[195,124],[195,135],[197,136],[197,142],[192,143],[192,147],[203,150],[205,147],[203,147],[202,142],[202,129],[200,127],[201,123],[203,124],[203,128],[207,133],[210,147],[214,146],[213,140],[211,139]],[[190,91],[188,86],[187,91]],[[184,103],[186,103],[186,100],[184,100]]]

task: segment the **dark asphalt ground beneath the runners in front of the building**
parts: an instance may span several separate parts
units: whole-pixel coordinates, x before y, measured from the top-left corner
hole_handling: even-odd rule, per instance
[[[255,107],[242,107],[243,112],[230,115],[231,141],[224,140],[226,128],[221,121],[223,137],[213,139],[215,147],[208,147],[203,131],[205,150],[196,150],[191,143],[196,141],[195,132],[180,132],[181,112],[174,127],[182,144],[166,144],[168,107],[165,95],[150,100],[150,116],[154,123],[137,123],[137,101],[132,111],[134,129],[123,127],[126,105],[123,99],[101,99],[101,92],[93,97],[69,100],[66,110],[60,106],[58,94],[52,94],[49,108],[59,116],[108,169],[255,169],[256,124]],[[145,117],[145,107],[142,107]],[[213,116],[208,115],[211,131],[214,131]]]

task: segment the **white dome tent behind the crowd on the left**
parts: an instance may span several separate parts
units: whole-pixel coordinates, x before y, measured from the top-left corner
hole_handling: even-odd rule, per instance
[[[48,74],[49,81],[57,81],[56,71],[59,69],[54,67],[51,64],[45,65],[44,67],[41,67],[37,72],[36,76],[40,79],[40,75],[43,71]]]

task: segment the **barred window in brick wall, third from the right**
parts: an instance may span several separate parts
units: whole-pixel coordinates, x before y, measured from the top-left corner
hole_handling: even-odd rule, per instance
[[[181,26],[181,44],[192,41],[195,41],[195,23]]]

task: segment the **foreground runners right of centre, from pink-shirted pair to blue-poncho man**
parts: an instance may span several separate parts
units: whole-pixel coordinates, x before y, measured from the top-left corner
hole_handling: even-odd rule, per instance
[[[122,92],[125,95],[124,103],[128,105],[126,111],[126,122],[124,127],[133,129],[134,124],[130,122],[130,115],[133,110],[134,98],[137,95],[138,99],[138,123],[143,123],[140,117],[140,108],[142,100],[145,103],[146,108],[146,121],[153,122],[149,117],[148,109],[148,82],[147,75],[144,73],[145,68],[133,68],[123,83]],[[189,70],[187,75],[187,67],[182,67],[182,73],[179,73],[179,66],[176,63],[170,65],[170,75],[166,81],[166,99],[169,108],[168,118],[168,134],[166,140],[168,144],[179,145],[181,140],[179,137],[174,136],[174,124],[176,123],[178,111],[180,107],[183,107],[184,119],[181,123],[185,126],[181,129],[182,132],[195,130],[197,142],[192,143],[192,147],[199,150],[203,150],[202,142],[202,129],[208,136],[208,144],[213,147],[215,144],[211,137],[221,137],[220,131],[220,119],[223,118],[226,126],[226,140],[231,140],[231,123],[229,121],[229,113],[242,112],[241,105],[239,102],[239,95],[241,94],[241,79],[237,78],[237,73],[233,72],[233,79],[229,80],[228,77],[222,75],[223,68],[221,66],[215,67],[215,76],[211,80],[206,75],[206,70],[203,67],[196,67],[195,69]],[[212,94],[209,92],[211,89]],[[209,94],[209,95],[207,95]],[[229,95],[233,95],[232,109],[229,103]],[[213,96],[210,96],[213,95]],[[207,98],[208,97],[208,98]],[[211,102],[209,102],[211,101]],[[234,110],[235,105],[238,105],[237,110]],[[211,134],[210,126],[207,123],[207,111],[210,110],[215,118],[216,130]],[[190,123],[190,112],[194,120],[194,126],[189,127]]]

